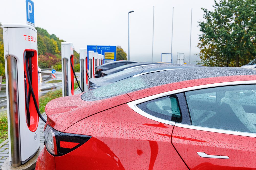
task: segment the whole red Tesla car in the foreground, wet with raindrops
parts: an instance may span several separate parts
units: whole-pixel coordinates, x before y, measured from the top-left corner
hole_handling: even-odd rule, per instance
[[[167,70],[50,101],[36,169],[255,169],[256,71]]]

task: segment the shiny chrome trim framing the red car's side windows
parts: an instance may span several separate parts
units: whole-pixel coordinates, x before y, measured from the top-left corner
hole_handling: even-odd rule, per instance
[[[198,89],[204,89],[204,88],[212,88],[212,87],[221,87],[221,86],[232,86],[232,85],[245,85],[245,84],[256,84],[256,80],[248,80],[248,81],[233,81],[233,82],[223,82],[223,83],[212,83],[212,84],[205,84],[205,85],[199,85],[199,86],[193,86],[193,87],[186,87],[186,88],[181,88],[177,90],[172,90],[172,91],[167,91],[164,93],[159,93],[156,95],[148,96],[145,98],[141,98],[138,100],[131,101],[127,103],[127,105],[136,113],[168,125],[173,125],[177,127],[184,127],[184,128],[189,128],[189,129],[195,129],[195,130],[203,130],[203,131],[208,131],[208,132],[217,132],[217,133],[224,133],[224,134],[231,134],[231,135],[239,135],[239,136],[249,136],[249,137],[256,137],[255,133],[249,133],[249,132],[238,132],[238,131],[233,131],[233,130],[224,130],[224,129],[217,129],[217,128],[209,128],[209,127],[202,127],[202,126],[195,126],[195,125],[187,125],[187,124],[182,124],[182,123],[176,123],[174,121],[168,121],[164,120],[155,116],[152,116],[144,111],[142,111],[140,108],[137,107],[137,104],[147,102],[150,100],[154,100],[157,98],[169,96],[169,95],[174,95],[177,93],[184,93],[186,91],[191,91],[191,90],[198,90]],[[188,109],[188,108],[187,108]]]

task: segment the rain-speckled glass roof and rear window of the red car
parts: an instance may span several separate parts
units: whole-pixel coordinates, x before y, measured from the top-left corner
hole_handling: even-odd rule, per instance
[[[235,67],[193,67],[154,72],[90,90],[89,92],[82,94],[81,98],[85,101],[101,100],[169,83],[235,75],[256,75],[256,70]],[[191,84],[191,86],[193,86],[193,84]]]

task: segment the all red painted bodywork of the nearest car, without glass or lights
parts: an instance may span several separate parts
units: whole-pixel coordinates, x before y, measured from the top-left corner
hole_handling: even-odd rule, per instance
[[[44,149],[36,169],[253,169],[256,138],[174,127],[126,104],[175,89],[244,80],[256,80],[256,75],[183,81],[91,102],[83,101],[81,94],[55,99],[47,104],[47,123],[58,131],[92,138],[63,156],[51,156]],[[230,159],[201,158],[197,152]]]

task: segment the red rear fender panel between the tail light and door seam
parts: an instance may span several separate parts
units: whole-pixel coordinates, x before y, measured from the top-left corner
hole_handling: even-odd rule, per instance
[[[172,130],[173,126],[147,119],[122,104],[87,117],[65,130],[93,137],[76,150],[55,157],[56,167],[187,169],[171,143]],[[72,164],[63,164],[66,161]]]

